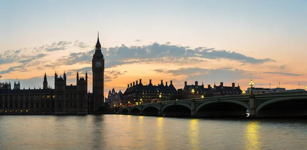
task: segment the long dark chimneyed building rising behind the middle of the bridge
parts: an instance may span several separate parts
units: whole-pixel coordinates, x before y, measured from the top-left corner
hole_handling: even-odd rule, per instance
[[[178,89],[183,94],[184,98],[201,98],[202,96],[211,93],[212,96],[224,96],[224,95],[239,95],[242,94],[242,90],[238,85],[235,87],[235,84],[232,83],[232,86],[224,86],[223,82],[219,86],[216,86],[214,83],[213,88],[211,85],[208,85],[207,88],[204,87],[204,84],[198,85],[198,81],[195,81],[195,85],[187,85],[187,82],[184,82],[184,88]]]

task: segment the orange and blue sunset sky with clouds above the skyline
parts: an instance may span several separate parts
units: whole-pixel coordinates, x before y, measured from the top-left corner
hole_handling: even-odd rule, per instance
[[[89,73],[97,32],[105,96],[142,79],[307,86],[307,1],[0,1],[1,82],[42,87]]]

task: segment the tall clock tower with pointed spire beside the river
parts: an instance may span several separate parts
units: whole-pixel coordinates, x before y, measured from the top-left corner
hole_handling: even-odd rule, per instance
[[[101,45],[99,42],[99,33],[95,48],[95,54],[92,60],[92,71],[93,71],[93,97],[91,101],[90,110],[95,112],[99,107],[104,104],[104,57],[101,53]]]

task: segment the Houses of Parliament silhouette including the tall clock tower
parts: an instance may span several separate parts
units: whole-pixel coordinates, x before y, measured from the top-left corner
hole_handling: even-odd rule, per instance
[[[87,114],[95,113],[103,106],[104,57],[101,52],[99,34],[92,59],[93,93],[87,92],[85,78],[77,71],[76,85],[67,85],[63,76],[54,74],[54,89],[48,85],[45,73],[43,87],[20,89],[20,82],[0,82],[0,114]]]

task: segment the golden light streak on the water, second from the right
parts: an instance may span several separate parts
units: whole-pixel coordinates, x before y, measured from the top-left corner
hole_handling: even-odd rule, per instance
[[[189,143],[191,149],[199,149],[199,119],[190,119],[189,122]]]

